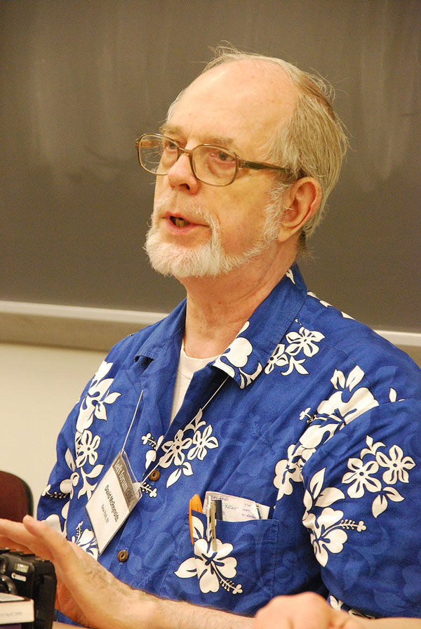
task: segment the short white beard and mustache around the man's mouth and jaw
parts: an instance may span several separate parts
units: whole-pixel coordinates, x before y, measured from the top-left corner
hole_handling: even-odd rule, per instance
[[[165,201],[156,204],[156,216],[160,216],[163,206],[165,206]],[[158,222],[154,222],[154,215],[152,215],[152,226],[146,235],[145,250],[152,268],[163,275],[173,275],[178,278],[216,277],[238,269],[252,258],[259,256],[269,244],[276,240],[281,221],[279,200],[271,201],[265,208],[265,225],[255,244],[247,251],[230,255],[224,251],[220,227],[208,211],[196,204],[190,204],[189,209],[196,218],[203,219],[211,231],[207,242],[194,247],[164,242],[159,232]]]

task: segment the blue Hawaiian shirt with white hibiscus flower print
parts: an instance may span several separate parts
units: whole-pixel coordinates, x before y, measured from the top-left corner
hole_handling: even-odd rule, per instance
[[[420,369],[293,265],[168,425],[184,326],[185,302],[112,348],[60,432],[39,519],[161,597],[254,614],[313,590],[351,613],[421,616]],[[125,447],[142,498],[98,556],[86,501],[142,391]],[[208,490],[269,517],[218,521],[214,549],[193,512],[192,544],[189,499]]]

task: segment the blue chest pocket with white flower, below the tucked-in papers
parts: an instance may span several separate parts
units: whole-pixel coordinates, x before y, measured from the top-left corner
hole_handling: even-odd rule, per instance
[[[194,511],[192,523],[194,545],[187,518],[159,595],[254,614],[273,597],[278,520],[218,520],[216,548],[206,516]]]

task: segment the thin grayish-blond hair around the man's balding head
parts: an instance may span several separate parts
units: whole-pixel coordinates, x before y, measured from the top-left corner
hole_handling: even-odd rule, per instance
[[[333,87],[318,75],[303,72],[282,59],[244,53],[231,46],[218,46],[214,58],[204,67],[202,74],[218,65],[240,60],[278,65],[297,88],[298,98],[293,114],[286,124],[274,129],[272,138],[266,145],[267,154],[264,159],[288,168],[293,173],[293,182],[308,176],[314,177],[321,186],[319,210],[306,223],[300,234],[300,246],[305,249],[307,236],[314,232],[323,218],[326,200],[338,181],[342,159],[348,147],[345,128],[333,111],[332,101],[335,95]],[[184,93],[185,90],[180,92],[169,108],[167,120]],[[292,183],[290,178],[285,183],[277,183],[272,198],[282,197],[286,187]],[[281,211],[281,198],[279,208]]]

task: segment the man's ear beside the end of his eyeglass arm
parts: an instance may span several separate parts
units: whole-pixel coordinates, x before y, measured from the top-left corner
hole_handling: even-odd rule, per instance
[[[321,187],[314,177],[303,177],[295,182],[285,194],[281,227],[278,241],[285,242],[302,230],[307,221],[314,216],[321,202]]]

